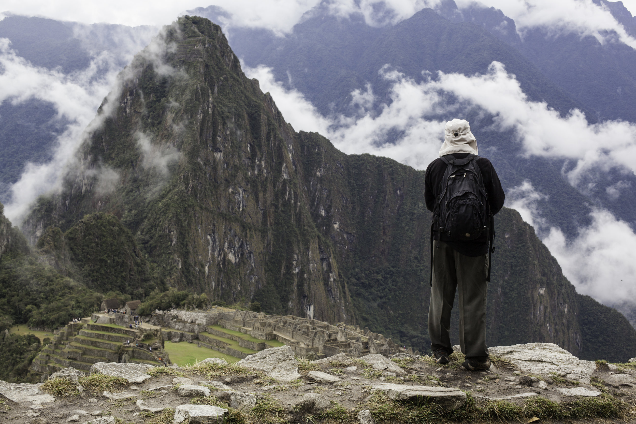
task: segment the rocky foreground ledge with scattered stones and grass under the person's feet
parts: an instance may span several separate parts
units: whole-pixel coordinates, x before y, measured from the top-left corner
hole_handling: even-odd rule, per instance
[[[488,371],[429,357],[345,354],[309,362],[289,346],[237,364],[98,363],[40,385],[0,382],[0,419],[52,424],[636,421],[636,363],[579,360],[556,345],[491,348]],[[635,418],[632,418],[635,417]],[[534,421],[533,421],[534,420]]]

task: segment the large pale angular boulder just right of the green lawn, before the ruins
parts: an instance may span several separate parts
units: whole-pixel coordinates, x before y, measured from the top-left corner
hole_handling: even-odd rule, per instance
[[[263,371],[266,376],[289,383],[301,377],[298,361],[291,346],[261,350],[237,362],[237,365]]]

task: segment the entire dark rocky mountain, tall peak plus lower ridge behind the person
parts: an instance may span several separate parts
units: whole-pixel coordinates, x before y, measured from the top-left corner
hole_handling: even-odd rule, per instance
[[[422,171],[295,132],[258,81],[245,78],[219,27],[183,17],[122,73],[64,189],[41,200],[24,229],[32,241],[50,226],[68,230],[76,258],[92,242],[73,247],[83,236],[72,241],[69,228],[105,212],[112,228],[120,219],[132,232],[169,286],[360,324],[427,350],[431,214],[423,187]],[[600,352],[586,337],[609,334],[616,317],[594,301],[579,304],[515,211],[497,215],[496,243],[488,344]],[[593,329],[582,307],[593,310]],[[455,330],[457,313],[453,320]],[[636,351],[636,332],[608,343]]]

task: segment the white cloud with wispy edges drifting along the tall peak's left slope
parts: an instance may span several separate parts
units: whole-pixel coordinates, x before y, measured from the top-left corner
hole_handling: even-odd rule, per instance
[[[112,35],[113,29],[110,30]],[[64,175],[76,180],[97,177],[96,188],[100,194],[111,190],[114,175],[107,169],[85,168],[84,163],[77,162],[76,153],[114,107],[119,106],[118,97],[123,84],[134,78],[143,65],[150,62],[160,74],[177,74],[176,69],[163,62],[165,54],[175,48],[174,44],[165,42],[165,29],[149,43],[148,40],[144,43],[143,34],[148,35],[146,30],[143,29],[137,39],[118,44],[118,48],[113,50],[93,51],[90,65],[71,74],[33,66],[11,50],[8,39],[0,39],[0,102],[7,100],[18,104],[29,99],[50,102],[57,110],[57,117],[69,122],[56,140],[53,159],[48,163],[27,163],[20,179],[11,186],[11,198],[5,205],[4,214],[13,224],[22,223],[38,196],[59,190]],[[108,36],[100,31],[93,29],[93,36],[95,33]],[[88,29],[79,27],[76,34],[81,36],[88,32]],[[148,46],[139,53],[135,63],[122,71],[123,65],[139,51],[140,44]],[[96,116],[100,105],[102,113]],[[162,168],[159,169],[162,172]]]

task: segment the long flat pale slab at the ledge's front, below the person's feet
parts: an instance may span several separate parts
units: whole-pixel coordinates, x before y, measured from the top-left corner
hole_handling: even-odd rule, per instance
[[[457,409],[466,403],[466,393],[456,388],[450,387],[429,387],[429,386],[406,386],[399,384],[387,384],[373,386],[371,393],[386,393],[391,399],[404,400],[415,397],[423,397],[431,400],[434,404],[450,411]]]

